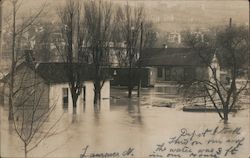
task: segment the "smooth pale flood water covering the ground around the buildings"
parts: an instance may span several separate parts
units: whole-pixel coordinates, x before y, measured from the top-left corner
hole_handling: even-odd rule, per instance
[[[217,113],[183,112],[185,102],[171,88],[142,89],[141,99],[137,99],[136,92],[133,94],[133,99],[129,100],[125,89],[113,88],[110,100],[103,101],[103,104],[110,103],[110,107],[101,108],[99,112],[85,111],[83,106],[79,106],[76,114],[73,114],[71,107],[65,110],[63,106],[57,106],[47,122],[52,124],[62,115],[53,129],[54,135],[46,138],[28,156],[75,158],[80,157],[83,148],[88,146],[88,153],[121,153],[132,148],[131,157],[150,157],[157,144],[168,142],[169,138],[177,136],[183,128],[203,131],[225,126],[230,129],[239,127],[239,137],[244,137],[245,141],[236,154],[221,157],[249,156],[249,109],[231,114],[229,123],[225,125]],[[167,103],[174,106],[155,106]],[[89,106],[88,103],[86,106]],[[23,157],[23,144],[7,116],[6,106],[1,106],[1,156]],[[227,135],[219,135],[221,139],[224,137]],[[187,155],[181,157],[189,157]]]

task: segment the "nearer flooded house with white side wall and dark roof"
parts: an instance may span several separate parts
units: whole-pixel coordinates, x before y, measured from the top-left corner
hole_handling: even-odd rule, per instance
[[[80,80],[83,84],[82,94],[78,98],[77,106],[91,106],[94,98],[94,67],[89,64],[81,64]],[[67,75],[66,63],[36,63],[31,65],[23,62],[16,68],[14,91],[20,89],[20,93],[15,95],[16,105],[25,98],[39,98],[39,104],[42,106],[50,106],[53,104],[62,105],[64,107],[72,107],[71,93],[69,89],[69,77]],[[2,81],[4,82],[4,94],[8,94],[7,75]],[[36,91],[36,94],[33,92]],[[6,95],[5,95],[6,96]],[[101,99],[110,97],[109,79],[104,81],[101,90]],[[29,99],[28,99],[29,100]],[[8,104],[8,97],[4,98],[4,103]],[[28,105],[29,102],[26,102]]]

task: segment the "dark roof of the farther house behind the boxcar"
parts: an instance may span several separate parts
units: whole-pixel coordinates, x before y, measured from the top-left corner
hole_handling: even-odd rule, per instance
[[[197,53],[189,48],[149,48],[141,53],[143,66],[204,66],[211,53]]]

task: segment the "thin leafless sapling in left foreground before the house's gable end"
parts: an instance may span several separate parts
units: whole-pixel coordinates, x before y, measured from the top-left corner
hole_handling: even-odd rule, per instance
[[[62,115],[52,122],[50,115],[56,104],[49,105],[48,86],[39,79],[35,63],[15,73],[15,95],[13,97],[13,124],[24,146],[25,158],[46,138],[56,134],[55,126]]]

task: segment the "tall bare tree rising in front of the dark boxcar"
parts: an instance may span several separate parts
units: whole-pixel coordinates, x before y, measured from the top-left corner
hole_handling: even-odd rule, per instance
[[[126,7],[127,8],[122,8],[118,6],[116,10],[114,23],[118,27],[114,28],[113,41],[115,41],[116,43],[125,41],[127,44],[126,50],[119,49],[118,51],[116,51],[116,57],[120,67],[129,67],[128,96],[130,98],[136,82],[138,82],[137,97],[140,97],[141,52],[144,48],[153,48],[155,46],[157,42],[157,33],[153,23],[146,20],[146,15],[144,15],[143,13],[143,7],[134,9],[132,9],[132,7],[128,5]],[[129,27],[131,28],[131,30],[128,29],[128,25],[131,25],[131,27]],[[129,35],[129,32],[132,32],[130,33],[132,35]],[[138,66],[138,69],[134,72],[135,69],[133,68],[135,66]],[[131,81],[131,78],[135,78],[135,73],[137,74],[137,81]]]

